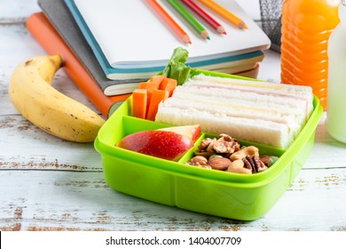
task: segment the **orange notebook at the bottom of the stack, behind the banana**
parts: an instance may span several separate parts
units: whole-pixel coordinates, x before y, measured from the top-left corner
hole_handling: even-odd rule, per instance
[[[67,44],[53,28],[43,12],[36,12],[28,17],[27,28],[35,40],[49,54],[59,54],[65,61],[64,70],[75,85],[87,96],[91,103],[98,108],[103,116],[108,118],[130,94],[106,96],[81,62],[75,57]]]

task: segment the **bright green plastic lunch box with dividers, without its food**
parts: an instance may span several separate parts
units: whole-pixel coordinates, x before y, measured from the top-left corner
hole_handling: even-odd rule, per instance
[[[213,72],[209,75],[234,77]],[[255,145],[261,155],[279,157],[271,168],[250,175],[185,165],[201,140],[211,136],[203,132],[196,146],[178,162],[115,147],[130,133],[167,126],[131,116],[131,97],[101,127],[95,148],[102,157],[106,183],[112,189],[194,212],[252,221],[271,209],[303,167],[311,152],[322,113],[318,99],[314,97],[310,119],[286,150],[240,141],[242,145]]]

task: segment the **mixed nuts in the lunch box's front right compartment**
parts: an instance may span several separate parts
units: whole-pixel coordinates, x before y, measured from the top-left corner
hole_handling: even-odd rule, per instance
[[[232,173],[260,173],[273,165],[278,157],[260,156],[255,146],[240,146],[230,135],[201,141],[187,165]]]

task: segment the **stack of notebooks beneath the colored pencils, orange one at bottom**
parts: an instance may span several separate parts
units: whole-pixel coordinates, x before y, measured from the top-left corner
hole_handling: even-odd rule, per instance
[[[157,2],[190,31],[167,1]],[[204,40],[191,32],[191,44],[183,44],[145,0],[38,0],[42,12],[28,18],[27,28],[48,53],[62,56],[67,75],[107,117],[139,82],[165,67],[177,46],[189,52],[186,64],[193,68],[256,77],[269,38],[235,0],[215,2],[232,8],[248,28],[219,19],[226,35],[210,29]]]

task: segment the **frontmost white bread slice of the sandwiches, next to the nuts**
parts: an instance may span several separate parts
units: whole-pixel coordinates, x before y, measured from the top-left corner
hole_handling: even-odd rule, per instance
[[[287,148],[293,141],[286,124],[248,119],[243,117],[225,116],[219,113],[209,113],[193,108],[166,108],[161,106],[157,121],[174,124],[201,124],[201,130],[207,133],[227,133],[233,138],[256,141],[279,148]]]

